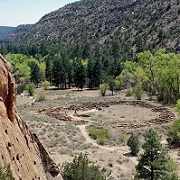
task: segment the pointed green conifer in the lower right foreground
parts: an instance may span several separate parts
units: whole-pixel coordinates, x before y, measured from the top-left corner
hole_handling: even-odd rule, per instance
[[[141,154],[136,166],[135,179],[159,180],[172,174],[173,167],[166,149],[161,144],[161,136],[150,129],[144,135],[144,139],[144,153]]]

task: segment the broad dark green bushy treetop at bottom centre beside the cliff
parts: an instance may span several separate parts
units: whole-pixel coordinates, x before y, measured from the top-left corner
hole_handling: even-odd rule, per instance
[[[62,177],[64,180],[105,180],[106,170],[99,170],[91,165],[87,154],[76,156],[72,162],[63,164]]]

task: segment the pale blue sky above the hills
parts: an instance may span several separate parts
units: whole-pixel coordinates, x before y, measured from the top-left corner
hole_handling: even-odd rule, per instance
[[[0,0],[0,26],[34,24],[66,4],[78,0]]]

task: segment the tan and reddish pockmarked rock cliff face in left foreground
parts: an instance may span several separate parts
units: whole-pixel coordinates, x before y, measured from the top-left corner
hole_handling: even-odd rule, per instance
[[[0,165],[10,164],[18,180],[61,179],[59,169],[15,107],[15,78],[11,65],[0,55]]]

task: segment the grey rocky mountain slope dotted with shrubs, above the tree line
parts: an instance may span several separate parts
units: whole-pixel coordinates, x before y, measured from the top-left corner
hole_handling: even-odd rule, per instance
[[[83,0],[45,15],[13,42],[92,50],[115,43],[133,56],[160,47],[179,52],[179,34],[179,0]]]

